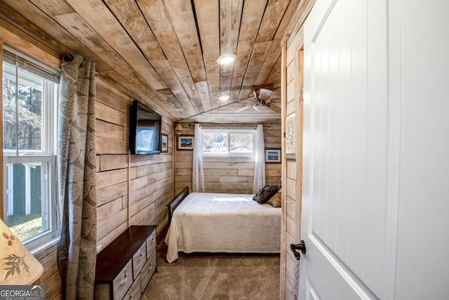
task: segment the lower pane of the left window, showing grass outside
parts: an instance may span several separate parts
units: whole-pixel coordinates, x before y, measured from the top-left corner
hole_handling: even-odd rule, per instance
[[[41,201],[48,195],[42,166],[48,169],[48,164],[41,162],[6,164],[7,224],[21,241],[43,233],[49,227],[46,218],[48,207]]]

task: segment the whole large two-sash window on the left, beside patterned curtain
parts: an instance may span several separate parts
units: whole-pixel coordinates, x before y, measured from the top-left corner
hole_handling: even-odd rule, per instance
[[[58,70],[5,47],[4,220],[28,249],[59,237],[55,141],[58,89]]]

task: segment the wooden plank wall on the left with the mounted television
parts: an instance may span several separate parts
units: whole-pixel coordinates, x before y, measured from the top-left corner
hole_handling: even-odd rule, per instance
[[[128,155],[133,99],[97,82],[97,240],[102,248],[128,226],[166,225],[166,204],[173,198],[173,122],[163,118],[167,153]]]

